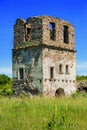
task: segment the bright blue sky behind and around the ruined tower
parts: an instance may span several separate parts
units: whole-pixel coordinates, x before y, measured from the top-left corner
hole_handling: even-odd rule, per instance
[[[87,0],[0,1],[0,74],[12,76],[13,25],[17,18],[49,15],[75,27],[77,74],[87,75]]]

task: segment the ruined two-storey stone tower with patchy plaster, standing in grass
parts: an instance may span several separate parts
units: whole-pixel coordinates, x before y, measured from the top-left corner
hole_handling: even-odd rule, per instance
[[[76,91],[74,27],[49,16],[17,19],[14,25],[13,93],[55,96]]]

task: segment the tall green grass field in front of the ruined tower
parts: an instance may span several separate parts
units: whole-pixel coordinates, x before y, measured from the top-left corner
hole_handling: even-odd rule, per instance
[[[87,94],[0,97],[0,130],[87,130]]]

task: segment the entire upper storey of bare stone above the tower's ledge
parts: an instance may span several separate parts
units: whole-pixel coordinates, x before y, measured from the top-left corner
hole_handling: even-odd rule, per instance
[[[50,23],[55,24],[55,39],[50,39]],[[64,26],[68,27],[69,43],[64,43]],[[26,39],[26,30],[30,28],[30,39]],[[74,50],[74,28],[73,26],[58,18],[48,16],[38,16],[28,18],[26,21],[17,19],[14,25],[14,46],[21,47],[26,45],[46,44],[55,47]]]

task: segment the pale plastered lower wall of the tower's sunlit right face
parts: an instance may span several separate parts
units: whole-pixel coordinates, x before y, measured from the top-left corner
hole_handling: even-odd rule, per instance
[[[72,59],[72,60],[71,60]],[[62,65],[62,73],[59,65]],[[68,65],[68,73],[66,73]],[[53,78],[50,78],[50,68],[54,68]],[[54,95],[58,88],[63,88],[65,95],[76,91],[75,52],[45,48],[43,51],[43,86],[44,94]]]

